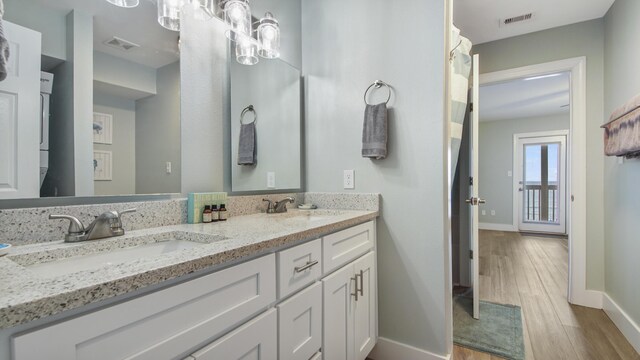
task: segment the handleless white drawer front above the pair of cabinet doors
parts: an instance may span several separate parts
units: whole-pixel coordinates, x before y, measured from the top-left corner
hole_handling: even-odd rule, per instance
[[[373,249],[374,231],[374,222],[370,221],[322,238],[323,273],[335,270]]]

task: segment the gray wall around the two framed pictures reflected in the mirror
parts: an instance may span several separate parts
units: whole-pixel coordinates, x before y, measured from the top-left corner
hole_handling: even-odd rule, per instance
[[[113,144],[93,144],[111,151],[112,180],[94,181],[95,195],[136,193],[136,104],[133,100],[93,93],[93,110],[113,115]]]

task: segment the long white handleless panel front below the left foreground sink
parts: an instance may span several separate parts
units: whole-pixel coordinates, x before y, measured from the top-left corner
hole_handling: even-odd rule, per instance
[[[13,338],[14,358],[174,359],[275,301],[275,255]],[[275,332],[275,330],[274,330]]]

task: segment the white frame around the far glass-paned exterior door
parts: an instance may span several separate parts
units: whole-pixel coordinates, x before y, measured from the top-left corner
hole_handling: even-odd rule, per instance
[[[565,160],[565,169],[563,171],[563,178],[564,178],[564,191],[562,192],[562,194],[564,194],[564,209],[562,209],[562,216],[564,217],[564,228],[565,228],[565,233],[568,233],[568,228],[569,228],[569,217],[567,209],[568,209],[568,205],[569,205],[569,196],[567,195],[569,193],[568,189],[569,189],[569,182],[567,181],[569,179],[568,174],[569,174],[569,148],[571,147],[571,144],[569,142],[569,131],[568,130],[551,130],[551,131],[539,131],[539,132],[529,132],[529,133],[519,133],[519,134],[513,134],[513,228],[516,229],[516,231],[520,230],[520,223],[518,221],[518,219],[520,218],[520,214],[521,214],[521,208],[520,208],[520,202],[519,199],[521,198],[520,195],[520,191],[518,190],[518,188],[520,187],[520,184],[518,183],[518,179],[520,174],[518,173],[520,171],[520,168],[518,166],[518,164],[522,161],[522,159],[517,159],[517,154],[518,154],[518,140],[520,139],[524,139],[524,138],[540,138],[540,137],[552,137],[552,136],[564,136],[565,137],[565,147],[564,147],[564,160]],[[517,172],[516,172],[517,171]],[[516,174],[518,174],[516,176]],[[562,179],[562,178],[561,178]]]

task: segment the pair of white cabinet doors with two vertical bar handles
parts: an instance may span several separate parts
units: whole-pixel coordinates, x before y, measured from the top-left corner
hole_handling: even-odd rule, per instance
[[[377,339],[375,252],[322,280],[325,359],[364,360]]]

